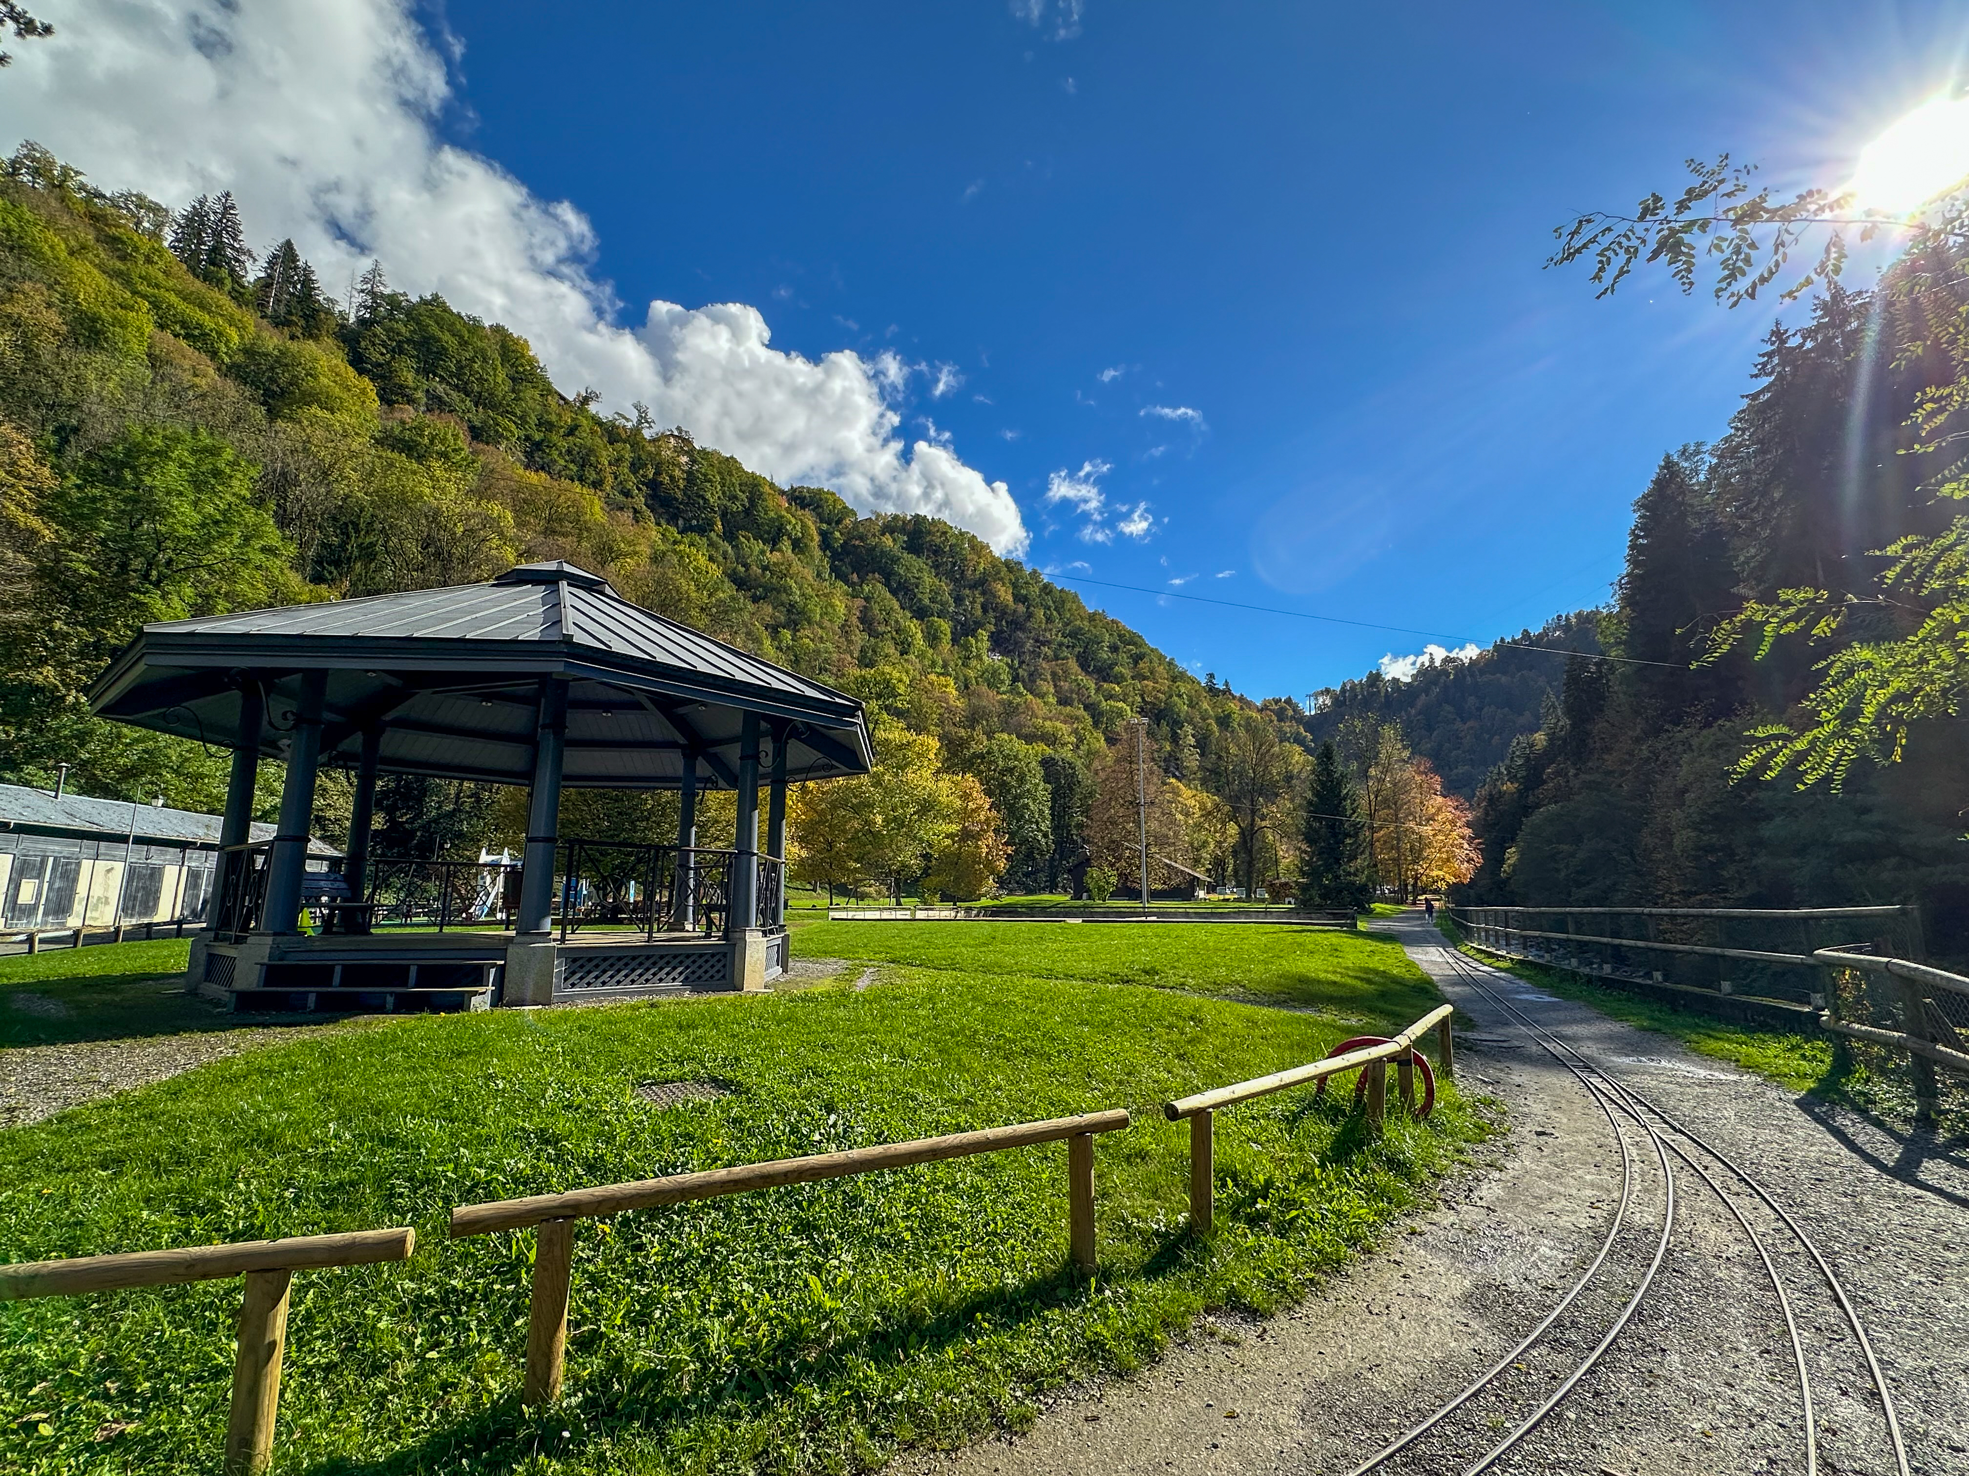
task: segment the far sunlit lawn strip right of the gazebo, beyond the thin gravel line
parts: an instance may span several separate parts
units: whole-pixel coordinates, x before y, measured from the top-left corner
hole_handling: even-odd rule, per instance
[[[813,923],[794,956],[1154,984],[1398,1025],[1441,1002],[1390,935],[1266,923]]]

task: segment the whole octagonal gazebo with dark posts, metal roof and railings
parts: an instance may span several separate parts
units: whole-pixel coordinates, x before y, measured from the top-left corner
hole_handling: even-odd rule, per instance
[[[786,785],[870,769],[857,699],[567,563],[144,626],[91,705],[232,750],[221,870],[187,982],[236,1008],[762,988],[786,966]],[[287,771],[274,838],[252,844],[262,758]],[[307,854],[323,766],[354,771],[337,862]],[[380,773],[528,785],[520,864],[370,856]],[[561,836],[563,787],[675,789],[677,840]],[[730,850],[695,844],[703,789],[736,791]]]

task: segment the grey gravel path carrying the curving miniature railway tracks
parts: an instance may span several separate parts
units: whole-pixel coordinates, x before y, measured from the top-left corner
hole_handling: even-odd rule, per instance
[[[1420,917],[1394,921],[1473,1029],[1465,1090],[1512,1112],[1479,1169],[1296,1311],[1219,1319],[1132,1380],[1067,1391],[1032,1431],[904,1472],[1347,1472],[1500,1358],[1607,1238],[1620,1193],[1615,1128],[1579,1080],[1451,964]],[[1481,982],[1595,1057],[1750,1167],[1847,1285],[1896,1395],[1922,1476],[1969,1472],[1969,1151],[1898,1136],[1530,990]],[[1666,1185],[1650,1141],[1622,1128],[1634,1199],[1593,1287],[1498,1387],[1382,1470],[1461,1472],[1530,1413],[1613,1324],[1652,1260]],[[1731,1185],[1713,1165],[1725,1189]],[[1662,1269],[1603,1362],[1498,1472],[1804,1472],[1798,1374],[1748,1238],[1676,1163],[1678,1218]],[[1774,1218],[1741,1197],[1786,1281],[1817,1405],[1819,1470],[1892,1472],[1878,1401],[1851,1332]]]

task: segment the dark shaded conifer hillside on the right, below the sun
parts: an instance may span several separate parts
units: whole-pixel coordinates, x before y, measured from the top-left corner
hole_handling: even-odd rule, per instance
[[[1945,266],[1959,281],[1961,264]],[[1821,663],[1904,638],[1934,604],[1914,581],[1880,583],[1882,551],[1941,533],[1955,512],[1936,482],[1959,453],[1916,423],[1924,403],[1947,403],[1930,386],[1955,374],[1936,321],[1900,291],[1908,270],[1876,293],[1833,283],[1804,323],[1774,327],[1729,433],[1662,459],[1634,504],[1617,608],[1599,622],[1628,663],[1573,663],[1556,710],[1487,779],[1469,895],[1920,901],[1930,947],[1969,951],[1959,716],[1914,722],[1900,752],[1871,744],[1843,785],[1835,766],[1804,791],[1798,768],[1758,777],[1782,734],[1747,736],[1772,722],[1841,732],[1847,697],[1819,689]],[[1747,604],[1800,590],[1821,592],[1806,600],[1821,614],[1776,622],[1762,655],[1754,630],[1713,653],[1711,636]],[[1739,768],[1754,744],[1766,762]]]

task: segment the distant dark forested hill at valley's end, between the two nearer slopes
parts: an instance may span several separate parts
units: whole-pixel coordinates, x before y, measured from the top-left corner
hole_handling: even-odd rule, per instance
[[[1538,732],[1546,707],[1557,701],[1565,657],[1552,651],[1599,651],[1597,626],[1599,610],[1579,610],[1498,640],[1469,659],[1420,667],[1406,681],[1378,671],[1343,681],[1319,693],[1317,710],[1303,716],[1305,732],[1321,744],[1351,720],[1392,722],[1429,760],[1447,793],[1473,799],[1485,775],[1510,756],[1512,742]]]

